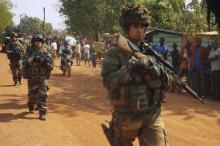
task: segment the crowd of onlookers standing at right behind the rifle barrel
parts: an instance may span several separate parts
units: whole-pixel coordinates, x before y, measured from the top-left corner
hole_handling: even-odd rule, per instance
[[[187,84],[198,95],[220,100],[220,46],[217,40],[206,48],[201,44],[200,38],[193,38],[182,50],[178,50],[177,44],[173,43],[173,48],[168,51],[164,38],[161,38],[154,49],[165,60],[172,58],[173,71],[179,78],[185,77]]]

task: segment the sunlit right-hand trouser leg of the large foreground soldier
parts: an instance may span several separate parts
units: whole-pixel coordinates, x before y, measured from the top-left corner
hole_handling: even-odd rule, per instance
[[[168,146],[167,134],[161,116],[144,121],[139,135],[140,146]]]

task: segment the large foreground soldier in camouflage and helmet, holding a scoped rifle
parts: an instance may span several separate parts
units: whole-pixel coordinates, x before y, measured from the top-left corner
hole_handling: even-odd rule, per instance
[[[127,39],[139,46],[149,25],[148,10],[141,5],[126,5],[119,22]],[[103,84],[113,106],[107,137],[112,146],[132,146],[135,138],[140,146],[167,146],[160,113],[168,76],[156,62],[132,59],[120,50],[112,45],[102,66]]]

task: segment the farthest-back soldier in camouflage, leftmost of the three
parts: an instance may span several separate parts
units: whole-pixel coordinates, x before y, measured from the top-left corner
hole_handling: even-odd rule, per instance
[[[12,71],[14,86],[19,82],[21,85],[21,68],[22,68],[22,59],[24,57],[24,48],[22,44],[17,40],[17,34],[11,34],[11,42],[7,45],[6,48],[8,59],[10,59],[10,68]]]

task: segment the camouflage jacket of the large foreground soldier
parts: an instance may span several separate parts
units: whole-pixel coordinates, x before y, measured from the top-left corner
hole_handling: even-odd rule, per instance
[[[163,90],[168,84],[167,74],[161,73],[157,79],[145,79],[143,74],[129,71],[126,67],[131,56],[119,52],[117,46],[108,49],[102,64],[103,84],[108,90],[108,98],[112,105],[128,104],[131,108],[138,110],[141,101],[144,101],[143,109],[151,106],[159,106],[163,98]],[[153,63],[162,71],[163,68]],[[165,78],[164,78],[165,77]],[[116,102],[115,102],[116,101]]]

